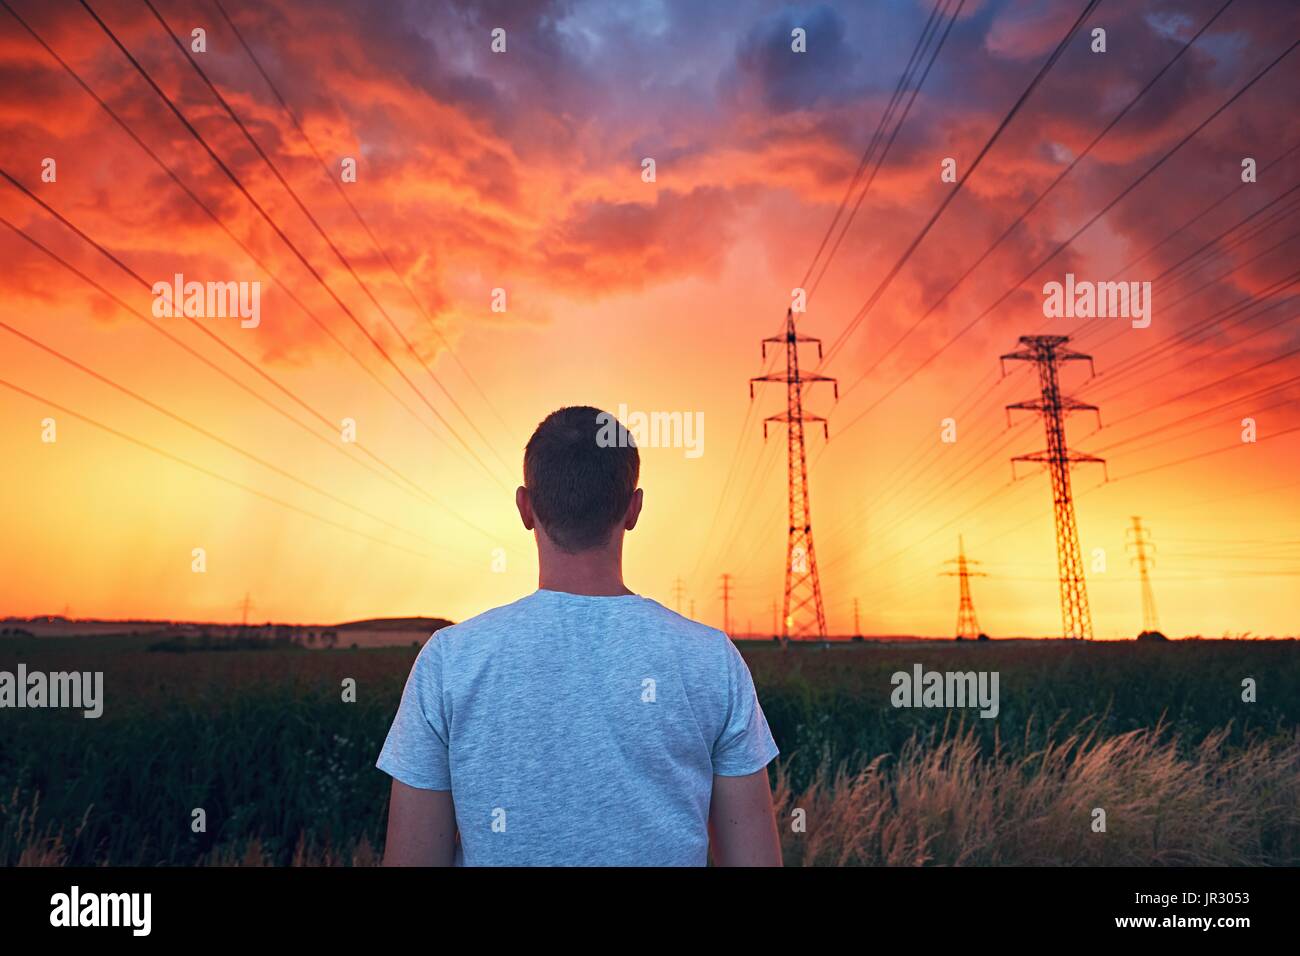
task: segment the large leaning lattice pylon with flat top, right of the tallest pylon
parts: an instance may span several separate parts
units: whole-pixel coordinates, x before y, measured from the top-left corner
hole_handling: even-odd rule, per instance
[[[1020,336],[1020,349],[1001,356],[1002,373],[1008,359],[1032,362],[1039,369],[1041,395],[1028,402],[1006,406],[1008,424],[1011,410],[1036,411],[1043,415],[1048,446],[1045,451],[1017,455],[1011,459],[1011,477],[1017,462],[1041,462],[1052,475],[1052,503],[1056,510],[1057,570],[1061,581],[1061,622],[1066,637],[1088,640],[1092,637],[1092,613],[1088,610],[1088,588],[1083,576],[1083,553],[1079,550],[1079,525],[1074,516],[1074,496],[1070,492],[1070,466],[1079,462],[1098,462],[1101,458],[1070,451],[1065,440],[1065,418],[1072,411],[1097,411],[1095,405],[1084,405],[1061,394],[1058,367],[1062,362],[1087,362],[1092,356],[1065,347],[1069,336]],[[1101,414],[1097,412],[1100,421]]]

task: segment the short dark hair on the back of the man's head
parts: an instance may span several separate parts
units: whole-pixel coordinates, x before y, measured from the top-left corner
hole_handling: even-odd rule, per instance
[[[608,544],[640,472],[641,455],[623,423],[588,405],[552,411],[524,449],[533,515],[569,554]]]

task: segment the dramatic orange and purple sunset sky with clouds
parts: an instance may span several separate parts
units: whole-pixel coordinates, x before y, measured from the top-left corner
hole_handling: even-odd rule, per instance
[[[826,347],[805,371],[840,381],[838,402],[805,390],[831,434],[809,429],[832,632],[857,601],[864,633],[949,636],[962,536],[983,630],[1060,633],[1048,475],[1013,484],[1009,460],[1043,421],[1004,411],[1039,381],[998,377],[1044,333],[1095,359],[1061,380],[1101,411],[1066,429],[1110,477],[1072,472],[1096,635],[1141,627],[1132,515],[1165,632],[1300,630],[1294,3],[1102,0],[1039,83],[1082,0],[942,0],[937,33],[930,0],[221,0],[238,34],[212,0],[152,3],[91,0],[101,27],[6,0],[48,49],[0,9],[0,614],[231,620],[247,594],[257,620],[463,619],[536,587],[523,442],[597,405],[705,423],[698,457],[642,451],[629,587],[675,606],[680,578],[720,626],[729,574],[733,631],[766,631],[786,473],[784,425],[764,444],[760,423],[785,395],[750,402],[748,380],[784,369],[759,341],[815,263],[798,320]],[[196,29],[252,142],[185,56]],[[876,150],[846,194],[923,35],[879,172]],[[1067,272],[1150,282],[1149,328],[1045,317]],[[155,319],[177,273],[260,282],[260,325]]]

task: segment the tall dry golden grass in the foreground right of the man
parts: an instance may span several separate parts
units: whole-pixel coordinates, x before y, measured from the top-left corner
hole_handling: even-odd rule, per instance
[[[982,754],[972,731],[918,735],[861,770],[824,761],[774,800],[788,866],[1296,865],[1300,737],[1179,756],[1161,728]],[[1105,810],[1105,832],[1093,810]],[[796,810],[806,829],[797,832]]]

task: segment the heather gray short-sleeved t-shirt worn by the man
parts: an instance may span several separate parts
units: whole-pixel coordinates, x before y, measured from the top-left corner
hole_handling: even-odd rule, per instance
[[[459,865],[703,866],[714,774],[776,754],[725,633],[537,591],[429,639],[377,766],[451,791]]]

